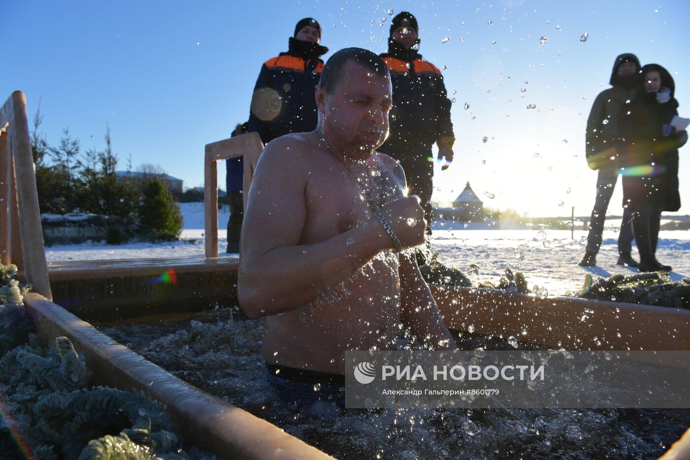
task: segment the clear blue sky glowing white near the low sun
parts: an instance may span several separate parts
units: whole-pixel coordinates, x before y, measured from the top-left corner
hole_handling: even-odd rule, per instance
[[[389,10],[417,17],[420,52],[455,98],[456,160],[436,171],[438,204],[469,180],[486,207],[589,214],[596,173],[584,160],[586,117],[622,52],[669,69],[680,115],[690,117],[690,2],[666,0],[0,0],[0,98],[23,90],[30,117],[41,98],[52,145],[69,128],[82,148],[102,148],[110,124],[120,169],[131,155],[135,167],[159,164],[199,186],[204,144],[246,121],[262,63],[287,49],[299,19],[322,24],[331,52],[384,52]],[[689,149],[680,150],[680,213],[690,213]],[[619,180],[609,213],[620,214],[620,189]]]

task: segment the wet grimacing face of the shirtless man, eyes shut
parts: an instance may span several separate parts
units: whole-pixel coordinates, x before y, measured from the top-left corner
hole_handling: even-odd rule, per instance
[[[368,155],[388,137],[388,111],[393,101],[391,79],[348,61],[344,75],[326,95],[317,86],[316,102],[326,131],[345,151]]]

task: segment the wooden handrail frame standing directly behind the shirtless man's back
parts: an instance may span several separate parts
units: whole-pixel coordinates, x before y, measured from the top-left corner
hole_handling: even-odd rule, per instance
[[[244,156],[242,201],[247,206],[249,187],[254,178],[264,143],[257,133],[247,133],[206,144],[204,155],[204,251],[206,258],[218,257],[218,160]]]

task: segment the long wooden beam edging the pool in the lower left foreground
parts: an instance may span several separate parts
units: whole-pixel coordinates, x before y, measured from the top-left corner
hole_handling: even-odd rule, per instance
[[[172,376],[39,294],[24,296],[43,345],[66,336],[100,385],[136,388],[168,407],[175,431],[223,459],[333,459],[275,425]],[[151,385],[154,382],[154,385]]]

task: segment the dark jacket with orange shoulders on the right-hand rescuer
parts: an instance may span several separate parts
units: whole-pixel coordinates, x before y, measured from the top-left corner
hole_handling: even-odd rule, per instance
[[[406,50],[391,41],[381,55],[391,72],[393,108],[388,144],[404,144],[431,149],[437,140],[453,145],[451,101],[441,71],[422,59],[415,50]]]

